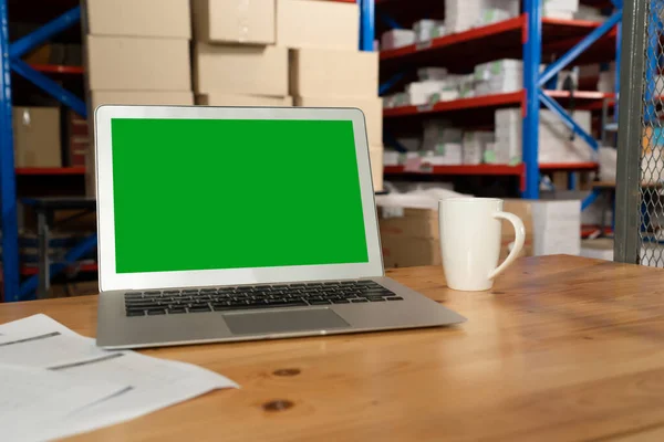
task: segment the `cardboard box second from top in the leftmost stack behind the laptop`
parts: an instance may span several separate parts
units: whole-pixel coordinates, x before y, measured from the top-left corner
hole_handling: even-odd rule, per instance
[[[87,35],[93,91],[190,91],[189,42]]]

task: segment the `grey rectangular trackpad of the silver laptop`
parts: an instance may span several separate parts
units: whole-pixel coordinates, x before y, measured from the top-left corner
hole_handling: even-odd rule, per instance
[[[349,324],[329,308],[252,312],[224,315],[234,335],[261,335],[328,328],[349,327]]]

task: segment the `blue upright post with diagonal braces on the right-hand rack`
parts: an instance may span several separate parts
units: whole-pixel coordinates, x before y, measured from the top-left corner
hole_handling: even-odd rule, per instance
[[[593,150],[599,149],[598,141],[583,128],[581,128],[577,122],[570,116],[570,114],[560,106],[554,99],[547,96],[542,87],[546,87],[547,83],[550,82],[561,70],[572,63],[581,53],[588,50],[593,43],[601,39],[604,34],[616,28],[618,42],[616,42],[616,76],[615,76],[615,93],[619,93],[619,78],[620,78],[620,33],[621,33],[621,20],[622,20],[622,0],[612,0],[615,8],[615,12],[604,22],[602,25],[596,28],[594,31],[589,33],[579,43],[577,43],[567,53],[560,56],[556,62],[549,64],[544,72],[540,74],[541,63],[541,51],[542,51],[542,21],[541,12],[542,4],[541,0],[525,0],[523,1],[523,13],[527,17],[526,20],[526,40],[523,42],[523,88],[526,90],[526,103],[523,109],[523,127],[522,127],[522,139],[523,139],[523,164],[526,165],[526,190],[523,191],[523,198],[538,199],[539,198],[539,161],[538,161],[538,140],[539,140],[539,109],[540,104],[543,104],[547,108],[558,115],[563,123],[573,130],[579,137],[581,137]],[[575,187],[575,176],[570,178],[569,187]],[[583,202],[582,208],[585,209],[598,196],[591,193]]]

